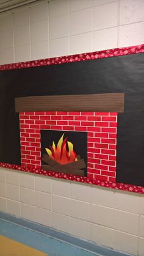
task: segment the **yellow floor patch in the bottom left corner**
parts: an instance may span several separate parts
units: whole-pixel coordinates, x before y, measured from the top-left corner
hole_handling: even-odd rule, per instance
[[[37,251],[29,246],[13,241],[0,235],[0,255],[1,256],[47,256],[43,252]]]

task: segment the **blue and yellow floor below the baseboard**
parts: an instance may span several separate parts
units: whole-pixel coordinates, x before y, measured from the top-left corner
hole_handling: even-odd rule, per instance
[[[7,246],[9,244],[9,246]],[[2,256],[96,256],[88,251],[0,219]],[[3,250],[3,251],[2,251]],[[37,251],[36,251],[37,250]],[[21,253],[21,254],[20,254]]]

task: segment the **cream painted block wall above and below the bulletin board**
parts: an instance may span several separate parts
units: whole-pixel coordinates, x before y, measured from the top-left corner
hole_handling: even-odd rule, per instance
[[[53,0],[0,15],[0,64],[141,44],[143,4]],[[144,255],[143,195],[0,169],[0,210]]]

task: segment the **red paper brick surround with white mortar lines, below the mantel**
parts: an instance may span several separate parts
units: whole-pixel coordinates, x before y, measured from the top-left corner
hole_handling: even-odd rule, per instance
[[[86,131],[89,178],[115,182],[117,113],[21,112],[21,165],[41,168],[40,130]]]

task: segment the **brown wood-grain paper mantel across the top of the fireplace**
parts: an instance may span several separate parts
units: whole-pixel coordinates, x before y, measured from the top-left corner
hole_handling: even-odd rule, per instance
[[[15,111],[124,112],[124,93],[21,97]]]

